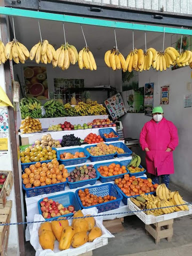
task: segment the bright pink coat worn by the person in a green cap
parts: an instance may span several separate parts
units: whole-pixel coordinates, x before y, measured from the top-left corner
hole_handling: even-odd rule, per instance
[[[140,132],[139,138],[142,150],[146,151],[146,169],[156,176],[174,173],[172,151],[165,151],[167,147],[172,150],[178,145],[176,126],[164,117],[158,123],[153,119],[146,122]]]

